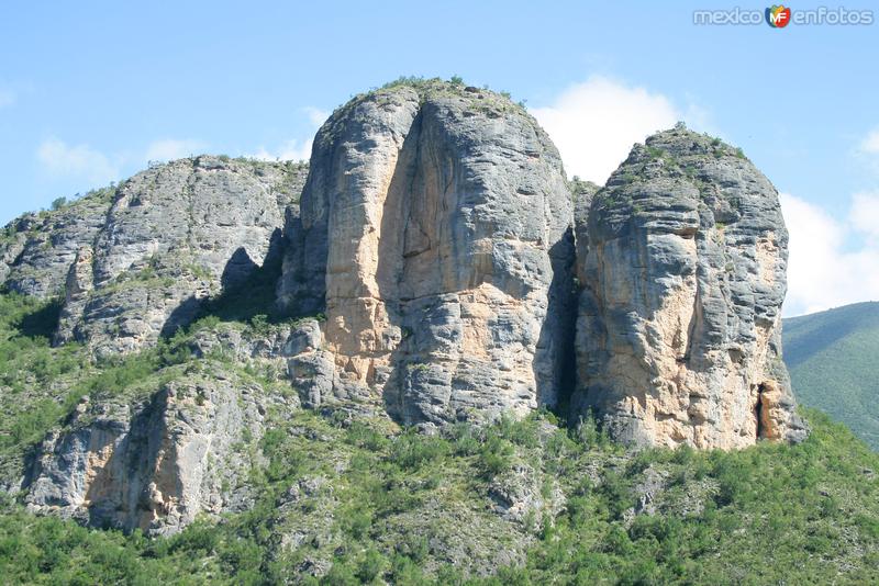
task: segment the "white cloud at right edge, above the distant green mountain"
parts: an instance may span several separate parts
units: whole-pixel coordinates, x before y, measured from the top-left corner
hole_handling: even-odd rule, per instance
[[[856,194],[845,222],[789,193],[780,198],[790,232],[785,315],[879,300],[879,244],[874,239],[879,229],[870,225],[879,218],[879,194]],[[866,237],[864,245],[847,246],[857,236]]]

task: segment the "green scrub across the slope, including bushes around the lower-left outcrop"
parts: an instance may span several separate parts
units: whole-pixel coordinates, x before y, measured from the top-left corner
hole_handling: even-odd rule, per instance
[[[232,305],[225,324],[210,315],[155,349],[93,363],[78,345],[48,345],[57,302],[0,295],[0,477],[15,478],[24,454],[63,425],[84,394],[132,402],[187,369],[210,375],[212,364],[268,388],[272,383],[253,365],[222,352],[197,360],[189,351],[202,331],[274,327],[262,313],[248,317],[251,325],[232,320]],[[21,495],[4,496],[2,582],[879,579],[879,454],[817,412],[805,414],[813,431],[802,444],[728,453],[627,450],[591,418],[565,425],[545,412],[435,435],[357,413],[269,407],[267,432],[241,446],[254,462],[246,480],[253,504],[168,538],[36,517]],[[524,509],[513,515],[505,498]]]

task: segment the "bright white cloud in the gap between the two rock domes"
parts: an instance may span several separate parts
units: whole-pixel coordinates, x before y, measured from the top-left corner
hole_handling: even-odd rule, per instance
[[[599,76],[568,88],[549,106],[528,111],[549,133],[568,174],[599,184],[620,166],[633,144],[683,119],[661,93]],[[701,110],[698,114],[705,115]]]

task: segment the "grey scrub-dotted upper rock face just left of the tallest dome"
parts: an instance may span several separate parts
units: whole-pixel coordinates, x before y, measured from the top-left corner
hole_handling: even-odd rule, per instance
[[[305,168],[216,157],[152,168],[118,190],[93,243],[70,252],[55,336],[99,356],[154,343],[272,255]]]

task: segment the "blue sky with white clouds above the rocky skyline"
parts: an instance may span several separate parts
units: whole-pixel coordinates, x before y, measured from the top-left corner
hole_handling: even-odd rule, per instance
[[[16,4],[0,8],[0,224],[149,158],[301,156],[353,94],[459,75],[526,100],[568,171],[599,181],[670,119],[721,135],[786,194],[787,313],[879,298],[877,24],[693,24],[732,1]]]

